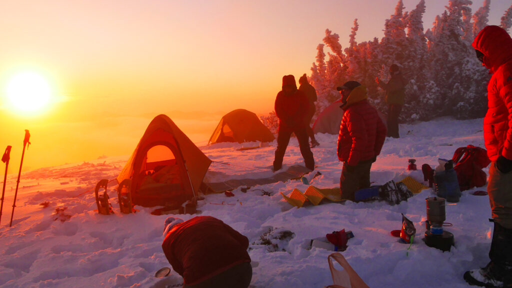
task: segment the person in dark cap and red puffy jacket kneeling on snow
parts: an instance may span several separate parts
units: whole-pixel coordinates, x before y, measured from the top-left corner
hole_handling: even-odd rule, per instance
[[[354,200],[355,192],[370,187],[370,170],[386,140],[387,129],[368,102],[366,87],[348,81],[336,88],[344,110],[338,135],[338,159],[343,162],[339,188],[342,199]]]

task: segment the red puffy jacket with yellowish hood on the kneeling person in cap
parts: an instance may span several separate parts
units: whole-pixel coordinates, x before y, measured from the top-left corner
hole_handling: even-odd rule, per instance
[[[338,159],[351,166],[379,155],[386,140],[386,126],[367,98],[366,87],[358,86],[340,106],[345,112],[339,127]]]

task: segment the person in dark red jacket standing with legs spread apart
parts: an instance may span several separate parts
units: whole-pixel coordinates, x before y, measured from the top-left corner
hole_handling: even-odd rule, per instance
[[[306,127],[306,115],[309,111],[309,101],[302,91],[297,89],[293,75],[283,76],[283,88],[275,97],[275,115],[279,118],[278,147],[275,150],[273,170],[278,171],[283,165],[286,148],[294,133],[301,148],[306,167],[315,168],[313,153],[309,148]]]

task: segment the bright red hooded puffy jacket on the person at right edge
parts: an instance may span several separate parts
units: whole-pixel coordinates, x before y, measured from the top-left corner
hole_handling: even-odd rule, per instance
[[[493,74],[483,121],[487,155],[492,161],[500,155],[512,160],[512,38],[498,26],[487,26],[475,38],[473,48],[484,54],[483,64]]]

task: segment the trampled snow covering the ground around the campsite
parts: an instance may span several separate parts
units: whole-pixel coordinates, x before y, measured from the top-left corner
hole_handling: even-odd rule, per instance
[[[408,171],[408,159],[435,167],[438,158],[451,158],[456,148],[484,147],[482,119],[437,119],[401,125],[402,137],[387,138],[372,167],[371,180],[383,184],[412,176],[422,182],[420,170]],[[141,131],[142,135],[142,131]],[[317,134],[321,145],[313,149],[321,176],[312,180],[318,188],[338,186],[342,164],[336,157],[337,135]],[[239,151],[259,143],[219,143],[200,147],[214,160],[207,181],[259,178],[272,175],[275,141],[269,147]],[[135,148],[135,147],[134,147]],[[31,155],[30,150],[25,157]],[[165,287],[182,282],[176,272],[155,278],[155,272],[170,266],[161,249],[163,222],[169,215],[151,215],[151,208],[136,207],[136,214],[121,214],[111,182],[109,190],[114,215],[95,212],[94,187],[100,179],[114,179],[129,156],[110,157],[64,166],[37,169],[22,174],[12,227],[9,228],[17,175],[8,176],[0,226],[0,287]],[[283,168],[303,164],[296,139],[290,141]],[[17,170],[10,164],[10,171]],[[1,170],[4,171],[3,169]],[[315,171],[315,172],[316,172]],[[484,170],[488,171],[488,168]],[[315,173],[314,172],[314,173]],[[312,174],[309,175],[309,177]],[[424,183],[424,182],[423,182]],[[295,208],[280,192],[305,191],[300,180],[251,187],[235,197],[206,195],[199,201],[200,215],[217,217],[249,238],[253,261],[251,286],[260,288],[323,287],[332,284],[327,256],[331,251],[310,248],[310,240],[341,229],[354,238],[342,252],[371,287],[466,287],[464,271],[484,266],[492,235],[488,222],[487,196],[464,191],[460,202],[446,206],[446,222],[453,227],[455,247],[442,252],[423,242],[426,220],[423,190],[398,205],[387,202],[324,200],[320,205]],[[44,208],[41,203],[47,202]],[[58,212],[60,211],[60,212]],[[401,228],[401,213],[414,222],[414,243],[403,244],[390,235]],[[195,215],[175,215],[185,220]],[[293,237],[278,240],[280,232]],[[261,244],[269,238],[277,249]],[[277,251],[275,251],[277,250]]]

